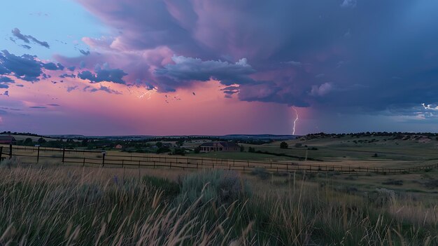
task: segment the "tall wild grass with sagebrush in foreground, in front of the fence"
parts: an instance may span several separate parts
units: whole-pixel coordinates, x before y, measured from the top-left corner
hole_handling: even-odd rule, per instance
[[[0,166],[0,245],[438,244],[437,187],[407,191],[436,170],[393,186],[383,175]]]

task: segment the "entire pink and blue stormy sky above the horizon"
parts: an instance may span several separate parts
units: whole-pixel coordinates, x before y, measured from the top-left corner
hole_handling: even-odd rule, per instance
[[[14,0],[0,130],[438,132],[438,1]]]

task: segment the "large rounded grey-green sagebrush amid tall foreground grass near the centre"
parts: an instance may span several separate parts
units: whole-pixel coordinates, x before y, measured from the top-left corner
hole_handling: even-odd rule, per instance
[[[241,180],[237,172],[209,170],[185,176],[176,203],[191,205],[199,199],[200,206],[214,203],[216,207],[220,207],[248,196],[249,186]]]

